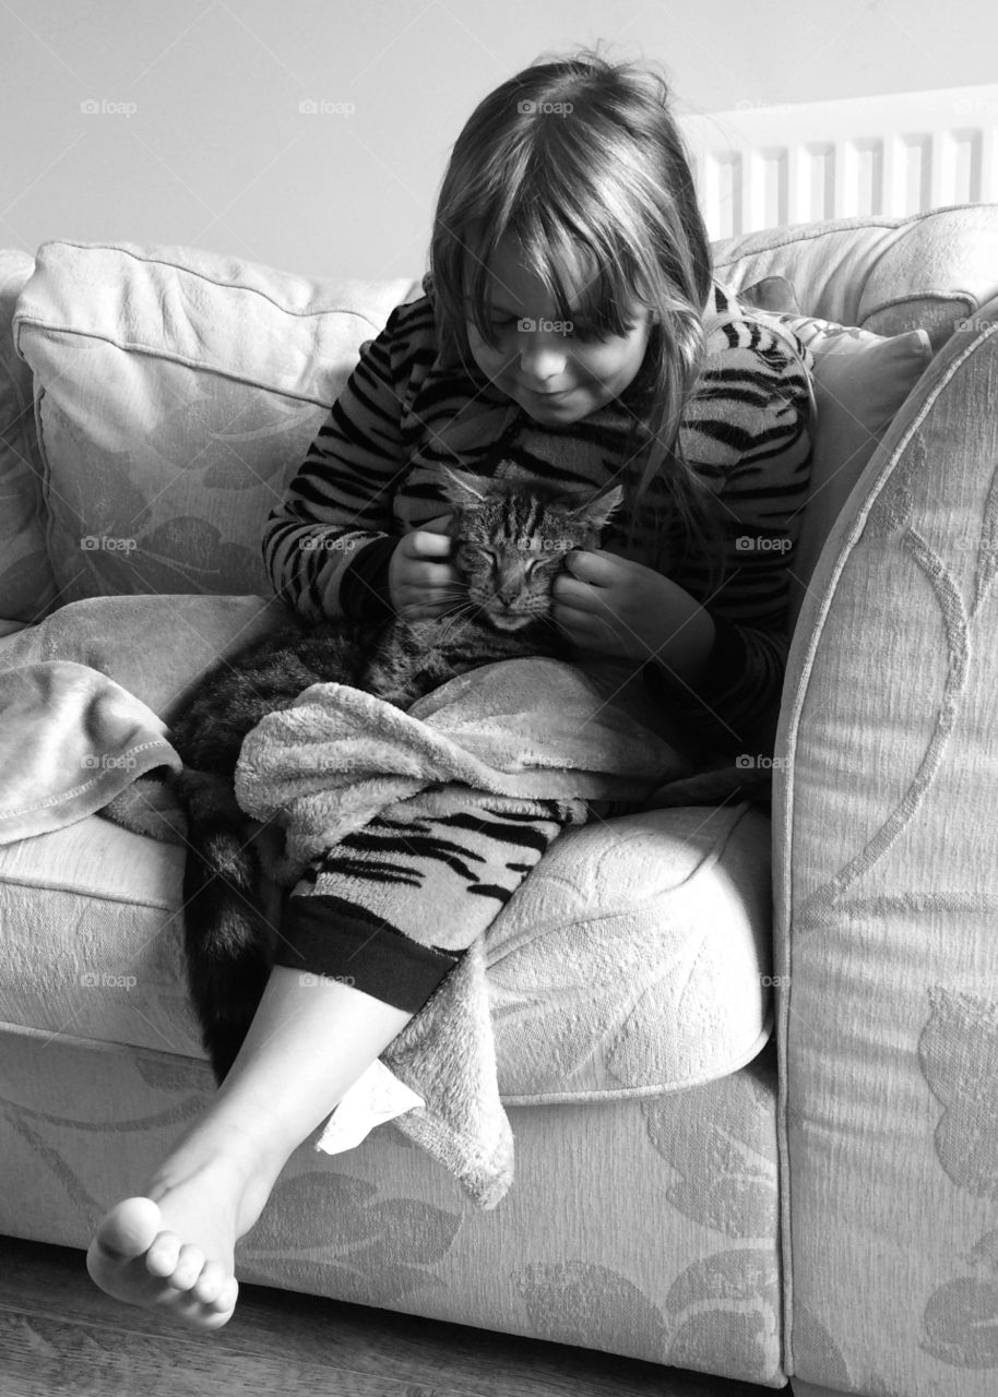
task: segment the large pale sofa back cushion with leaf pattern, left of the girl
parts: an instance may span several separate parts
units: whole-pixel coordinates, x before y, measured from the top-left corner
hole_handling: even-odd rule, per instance
[[[267,592],[257,539],[359,346],[419,284],[45,243],[15,312],[63,601]]]

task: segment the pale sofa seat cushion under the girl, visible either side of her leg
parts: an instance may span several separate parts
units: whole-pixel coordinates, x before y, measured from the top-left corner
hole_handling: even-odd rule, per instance
[[[89,816],[0,847],[0,1020],[203,1058],[183,986],[183,851]],[[745,806],[597,821],[489,933],[514,1104],[713,1081],[770,1031],[769,821]]]

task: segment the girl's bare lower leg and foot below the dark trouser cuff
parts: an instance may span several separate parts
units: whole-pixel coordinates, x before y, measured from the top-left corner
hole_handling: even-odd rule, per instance
[[[116,1299],[200,1329],[232,1315],[232,1253],[291,1154],[411,1013],[331,979],[275,967],[253,1025],[204,1115],[144,1196],[105,1217],[87,1253]]]

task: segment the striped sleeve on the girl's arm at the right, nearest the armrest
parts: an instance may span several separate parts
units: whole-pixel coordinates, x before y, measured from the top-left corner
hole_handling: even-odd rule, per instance
[[[716,640],[696,692],[658,665],[647,678],[704,740],[758,757],[772,745],[790,645],[790,583],[811,479],[813,358],[795,337],[741,312],[707,348],[714,352],[681,441],[714,488],[723,569],[711,581],[707,559],[692,556],[672,577],[703,601]]]

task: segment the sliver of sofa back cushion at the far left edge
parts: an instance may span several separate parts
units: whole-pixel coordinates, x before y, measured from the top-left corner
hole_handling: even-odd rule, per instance
[[[13,316],[35,258],[0,251],[0,634],[39,620],[56,595],[45,546],[42,461],[31,370],[14,352]]]

